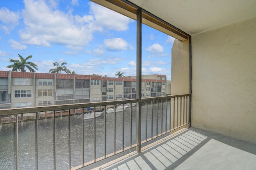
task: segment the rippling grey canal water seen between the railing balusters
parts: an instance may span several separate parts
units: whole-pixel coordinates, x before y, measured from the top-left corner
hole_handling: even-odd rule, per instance
[[[155,106],[154,106],[155,107]],[[151,136],[152,110],[148,107],[147,136]],[[136,107],[124,111],[124,123],[122,112],[116,113],[116,126],[114,127],[114,113],[102,113],[96,118],[96,158],[104,156],[104,117],[106,116],[106,154],[114,151],[114,128],[116,129],[116,150],[122,146],[122,129],[124,124],[124,147],[130,146],[130,128],[132,129],[132,144],[136,143]],[[156,119],[158,115],[158,119]],[[169,116],[168,116],[169,117]],[[165,111],[153,109],[153,136],[156,135],[156,120],[158,120],[158,134],[161,129],[161,118],[165,122]],[[169,120],[169,118],[167,119]],[[36,169],[36,135],[35,121],[18,123],[18,167],[24,170]],[[165,123],[162,128],[165,129]],[[169,128],[169,124],[167,125]],[[16,146],[15,146],[15,125],[4,124],[0,128],[0,169],[16,169]],[[38,121],[39,141],[39,169],[54,169],[54,148],[53,148],[53,119],[42,119]],[[56,169],[69,168],[68,149],[68,117],[56,117]],[[142,107],[142,140],[146,138],[146,108]],[[82,115],[70,116],[70,148],[71,166],[82,164]],[[127,150],[126,154],[130,151]],[[125,153],[123,153],[125,154]],[[84,120],[84,162],[94,160],[94,121]]]

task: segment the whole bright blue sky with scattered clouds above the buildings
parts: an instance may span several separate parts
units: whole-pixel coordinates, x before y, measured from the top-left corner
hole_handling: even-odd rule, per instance
[[[142,75],[171,79],[173,42],[142,25]],[[136,21],[88,0],[1,0],[0,70],[18,54],[40,73],[66,62],[77,74],[136,75]]]

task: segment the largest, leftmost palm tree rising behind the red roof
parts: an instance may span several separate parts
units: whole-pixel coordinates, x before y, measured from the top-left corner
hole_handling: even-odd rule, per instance
[[[12,71],[22,71],[22,72],[26,72],[27,69],[29,69],[30,72],[35,72],[34,69],[38,70],[37,65],[35,63],[27,62],[29,58],[32,58],[32,55],[29,55],[25,59],[20,54],[18,54],[18,56],[20,57],[20,60],[18,59],[14,60],[9,58],[10,62],[12,62],[13,64],[8,65],[7,68],[12,68]],[[27,69],[25,69],[25,67],[27,67]]]

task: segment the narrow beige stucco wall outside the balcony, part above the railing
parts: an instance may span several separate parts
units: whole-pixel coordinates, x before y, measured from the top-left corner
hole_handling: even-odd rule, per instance
[[[172,95],[189,93],[189,40],[172,45]]]

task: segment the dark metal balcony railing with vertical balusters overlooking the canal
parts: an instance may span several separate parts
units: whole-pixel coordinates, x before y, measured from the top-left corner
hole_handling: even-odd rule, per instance
[[[2,109],[0,168],[78,169],[140,151],[141,144],[190,123],[190,100],[185,94]],[[96,111],[92,119],[85,108]]]

